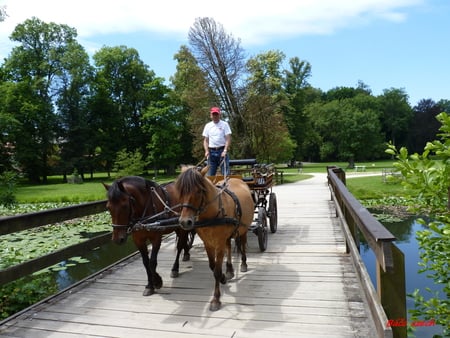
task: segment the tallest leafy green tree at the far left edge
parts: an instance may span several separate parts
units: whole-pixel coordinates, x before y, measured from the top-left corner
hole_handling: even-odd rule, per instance
[[[57,154],[58,101],[63,59],[76,43],[76,31],[66,25],[32,18],[16,26],[11,40],[18,43],[4,71],[14,82],[14,118],[20,130],[14,135],[16,159],[31,181],[46,182]],[[57,158],[56,158],[57,159]]]

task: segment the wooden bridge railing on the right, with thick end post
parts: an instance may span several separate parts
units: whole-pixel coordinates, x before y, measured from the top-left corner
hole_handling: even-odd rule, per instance
[[[379,337],[406,337],[407,328],[390,327],[388,319],[406,318],[404,255],[396,239],[346,187],[345,171],[327,167],[328,185],[345,235],[347,253],[353,258],[363,284]],[[376,258],[376,289],[359,254],[363,236]]]

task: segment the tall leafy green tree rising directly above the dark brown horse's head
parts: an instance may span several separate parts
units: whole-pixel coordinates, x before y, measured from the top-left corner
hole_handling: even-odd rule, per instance
[[[154,99],[148,84],[155,75],[134,48],[103,47],[93,58],[96,76],[91,108],[98,128],[99,156],[109,171],[124,147],[126,151],[139,149],[147,156],[142,116]]]

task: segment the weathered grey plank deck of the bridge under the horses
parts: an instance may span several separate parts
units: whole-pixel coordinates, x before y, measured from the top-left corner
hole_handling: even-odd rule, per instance
[[[143,297],[134,255],[0,323],[2,337],[390,337],[384,314],[330,198],[326,174],[275,186],[278,231],[260,252],[249,233],[246,273],[222,286],[222,308],[209,311],[213,276],[201,241],[171,279],[174,243],[163,244],[164,286]],[[374,299],[370,299],[374,298]],[[376,300],[376,299],[375,299]]]

